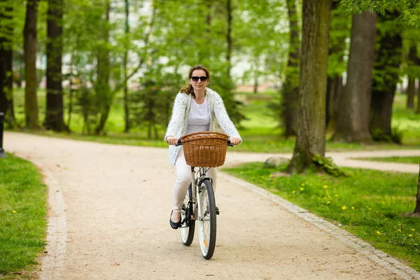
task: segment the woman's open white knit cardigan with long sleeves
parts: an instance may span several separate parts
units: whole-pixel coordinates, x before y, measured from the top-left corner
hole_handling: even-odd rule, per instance
[[[235,125],[232,123],[226,112],[225,105],[221,96],[214,90],[206,88],[207,102],[209,103],[210,111],[210,131],[215,131],[214,118],[216,117],[218,124],[221,126],[225,134],[228,134],[229,137],[238,137],[241,139]],[[167,132],[165,134],[165,140],[167,137],[172,136],[180,138],[186,134],[187,124],[188,124],[188,115],[190,114],[191,109],[191,99],[193,97],[191,94],[186,94],[179,92],[176,94],[174,109],[172,109],[172,118],[169,121],[167,127]],[[179,149],[181,146],[169,146],[169,164],[174,166],[176,157],[178,156]]]

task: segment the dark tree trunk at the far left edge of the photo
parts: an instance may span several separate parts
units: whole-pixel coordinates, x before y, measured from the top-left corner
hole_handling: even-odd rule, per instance
[[[16,124],[13,111],[13,2],[3,1],[0,6],[0,112],[5,113],[10,127]]]

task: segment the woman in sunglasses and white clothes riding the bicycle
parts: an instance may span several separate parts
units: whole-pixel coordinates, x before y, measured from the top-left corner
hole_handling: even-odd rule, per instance
[[[169,163],[176,167],[174,186],[174,207],[169,224],[176,230],[181,227],[181,208],[191,181],[191,168],[186,164],[182,146],[174,146],[178,139],[193,132],[214,131],[214,119],[230,137],[230,142],[237,145],[241,137],[226,112],[221,96],[207,87],[210,73],[206,67],[196,65],[190,69],[189,84],[176,95],[172,118],[169,121],[165,140],[169,145]],[[207,173],[213,179],[216,190],[216,169]]]

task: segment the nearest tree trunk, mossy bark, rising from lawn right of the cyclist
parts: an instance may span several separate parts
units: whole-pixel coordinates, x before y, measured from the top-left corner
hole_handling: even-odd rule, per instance
[[[297,136],[288,172],[314,166],[312,158],[325,155],[325,91],[327,87],[330,0],[303,0],[302,45]]]

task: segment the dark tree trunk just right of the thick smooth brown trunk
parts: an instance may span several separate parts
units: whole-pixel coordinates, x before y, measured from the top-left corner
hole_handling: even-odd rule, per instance
[[[381,22],[395,20],[398,10],[381,15]],[[398,27],[395,27],[398,28]],[[401,27],[399,27],[401,28]],[[386,31],[379,39],[379,50],[374,69],[381,76],[382,83],[374,79],[372,102],[370,104],[370,132],[381,134],[381,140],[391,139],[391,116],[395,89],[398,83],[398,69],[401,64],[401,30]],[[382,74],[386,73],[386,74]]]

